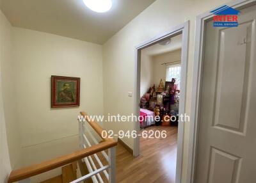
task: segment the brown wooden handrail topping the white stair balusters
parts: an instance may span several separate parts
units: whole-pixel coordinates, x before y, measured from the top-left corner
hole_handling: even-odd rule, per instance
[[[81,115],[87,116],[86,113],[81,112]],[[100,125],[93,121],[88,121],[92,128],[97,132],[97,134],[101,136],[102,128]],[[51,159],[49,161],[45,161],[43,163],[34,164],[32,166],[28,166],[26,168],[20,168],[18,170],[13,170],[10,173],[8,183],[17,182],[19,180],[27,179],[29,177],[33,177],[40,173],[44,173],[46,171],[53,170],[54,168],[58,168],[60,166],[64,166],[69,163],[73,163],[74,161],[78,161],[79,159],[83,159],[84,157],[88,157],[89,155],[96,154],[103,150],[106,150],[111,147],[115,147],[117,142],[113,139],[102,138],[104,141],[97,145],[93,145],[92,147],[84,148],[81,150],[77,150],[71,154],[63,155],[61,157],[57,157],[55,159]]]

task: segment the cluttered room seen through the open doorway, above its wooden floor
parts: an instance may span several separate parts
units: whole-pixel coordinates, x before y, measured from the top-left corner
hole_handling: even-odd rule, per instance
[[[141,129],[179,125],[180,43],[181,36],[176,36],[141,52]]]

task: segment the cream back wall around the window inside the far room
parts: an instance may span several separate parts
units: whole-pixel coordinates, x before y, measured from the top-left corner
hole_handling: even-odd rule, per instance
[[[163,79],[165,82],[166,79],[166,66],[161,65],[162,63],[169,63],[181,60],[181,49],[171,52],[166,52],[164,54],[158,54],[153,56],[153,83],[158,87],[160,80]],[[170,65],[170,64],[168,64]]]

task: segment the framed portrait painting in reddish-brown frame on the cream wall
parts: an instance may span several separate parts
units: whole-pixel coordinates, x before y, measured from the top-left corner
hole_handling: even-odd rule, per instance
[[[80,104],[80,77],[51,76],[51,107],[77,107]]]

